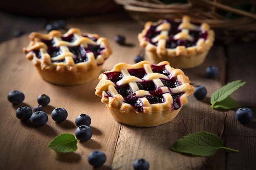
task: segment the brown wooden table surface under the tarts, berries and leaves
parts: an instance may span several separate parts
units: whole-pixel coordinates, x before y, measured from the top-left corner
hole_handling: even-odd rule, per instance
[[[135,128],[115,121],[101,98],[97,97],[92,82],[78,86],[56,86],[43,81],[31,62],[25,59],[22,47],[29,43],[31,31],[43,30],[47,18],[29,18],[0,13],[0,169],[1,170],[92,170],[87,161],[92,150],[106,153],[107,161],[99,170],[132,170],[135,159],[144,158],[150,170],[255,170],[256,169],[256,119],[248,124],[236,120],[235,111],[218,111],[210,108],[211,94],[221,86],[237,79],[247,83],[231,95],[236,101],[256,113],[256,43],[238,42],[223,45],[215,42],[205,62],[196,68],[186,69],[193,85],[207,88],[207,97],[197,100],[188,97],[173,121],[152,128]],[[119,62],[133,64],[133,57],[140,52],[137,34],[142,26],[125,13],[114,13],[81,18],[67,18],[67,28],[77,27],[83,32],[97,33],[108,38],[113,49],[102,71],[111,70]],[[16,29],[27,31],[25,35],[12,38]],[[128,46],[115,43],[114,36],[126,35]],[[205,68],[214,65],[220,75],[214,79],[205,77]],[[45,126],[35,127],[29,121],[22,122],[15,116],[18,106],[7,100],[9,91],[19,90],[25,94],[20,105],[37,105],[37,96],[47,94],[51,98],[45,112],[49,121]],[[54,122],[51,111],[63,107],[67,120]],[[61,133],[74,134],[75,118],[86,113],[92,118],[93,136],[89,141],[78,142],[76,152],[59,154],[48,148],[49,142]],[[169,150],[177,139],[193,132],[207,131],[220,137],[226,147],[239,150],[219,150],[212,157],[191,157]]]

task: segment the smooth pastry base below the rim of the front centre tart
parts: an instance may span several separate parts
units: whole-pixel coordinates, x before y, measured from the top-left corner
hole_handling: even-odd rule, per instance
[[[135,127],[153,127],[166,124],[172,121],[180,112],[182,106],[177,110],[163,110],[161,112],[138,113],[130,109],[129,112],[122,112],[119,108],[110,108],[106,104],[108,111],[114,119],[120,123]]]

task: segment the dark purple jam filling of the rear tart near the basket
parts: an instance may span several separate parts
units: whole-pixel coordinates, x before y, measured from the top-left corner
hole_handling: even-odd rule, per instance
[[[178,29],[181,22],[163,20],[163,23],[166,23],[166,22],[169,22],[171,24],[171,29],[168,30],[168,39],[166,40],[166,45],[165,45],[166,49],[175,49],[177,46],[186,46],[186,47],[195,46],[196,42],[198,42],[198,40],[200,38],[203,38],[204,40],[207,39],[207,36],[208,36],[207,31],[190,30],[189,35],[191,35],[193,37],[193,41],[175,40],[174,35],[181,32],[181,30]],[[160,23],[160,24],[162,24],[162,23]],[[158,42],[153,42],[152,40],[154,37],[156,37],[157,35],[159,35],[161,33],[161,31],[156,31],[157,26],[159,26],[160,24],[151,25],[145,35],[146,40],[148,40],[148,42],[150,42],[151,44],[154,44],[155,46],[157,46]],[[193,24],[200,25],[198,23],[193,23]]]

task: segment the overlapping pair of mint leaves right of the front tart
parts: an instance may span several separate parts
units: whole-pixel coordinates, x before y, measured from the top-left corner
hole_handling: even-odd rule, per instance
[[[228,84],[226,84],[225,86],[222,86],[221,88],[219,88],[218,90],[216,90],[212,95],[211,95],[211,108],[216,108],[215,106],[218,104],[218,107],[223,106],[224,103],[229,103],[231,102],[231,99],[227,99],[226,101],[224,101],[222,103],[222,101],[224,99],[226,99],[227,97],[229,97],[229,95],[231,95],[234,91],[236,91],[238,88],[240,88],[241,86],[245,85],[245,81],[243,80],[236,80],[233,82],[230,82]],[[231,98],[231,97],[230,97]],[[231,105],[235,105],[234,99],[232,99],[232,104]],[[220,103],[221,102],[221,103]],[[236,102],[236,104],[238,104]],[[238,104],[238,106],[232,106],[234,108],[239,107],[240,104]],[[224,108],[224,107],[221,107]],[[228,108],[228,106],[227,106]]]

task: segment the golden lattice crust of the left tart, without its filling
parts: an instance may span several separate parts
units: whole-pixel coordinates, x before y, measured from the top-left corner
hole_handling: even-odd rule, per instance
[[[62,40],[61,37],[74,35],[76,38],[73,42]],[[106,38],[99,37],[97,34],[86,33],[88,37],[97,38],[93,41],[88,37],[84,37],[79,29],[71,28],[67,33],[62,34],[60,31],[50,31],[48,34],[32,32],[29,35],[29,45],[23,48],[26,58],[31,60],[36,66],[38,72],[48,82],[59,85],[75,85],[89,82],[98,77],[102,64],[112,54],[112,49]],[[54,40],[54,46],[59,47],[61,53],[56,57],[51,57],[47,53],[47,45],[43,40]],[[88,47],[88,44],[99,45],[102,53],[94,57],[93,53],[86,53],[88,60],[86,62],[75,63],[73,58],[75,55],[69,51],[67,46],[83,46]],[[39,50],[41,58],[36,57],[33,51]],[[55,62],[64,60],[64,62]]]

